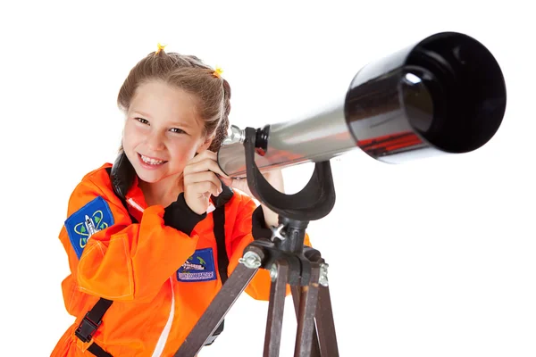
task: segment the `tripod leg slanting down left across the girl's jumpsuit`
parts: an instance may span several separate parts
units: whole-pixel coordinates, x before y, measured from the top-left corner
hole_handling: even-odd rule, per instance
[[[205,313],[197,321],[196,326],[192,328],[184,343],[180,345],[179,351],[175,353],[174,357],[191,357],[201,351],[205,342],[220,325],[257,270],[258,268],[247,268],[244,264],[237,266],[223,284],[220,292],[214,297],[212,303],[208,305]]]

